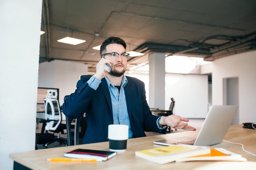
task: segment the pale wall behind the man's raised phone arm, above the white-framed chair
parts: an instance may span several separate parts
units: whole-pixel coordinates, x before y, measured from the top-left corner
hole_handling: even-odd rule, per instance
[[[59,88],[59,102],[62,105],[64,96],[75,91],[79,75],[87,73],[87,64],[63,60],[43,62],[39,64],[38,87]]]

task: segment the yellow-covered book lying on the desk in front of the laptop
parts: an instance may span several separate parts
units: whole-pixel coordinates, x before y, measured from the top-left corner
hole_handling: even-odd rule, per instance
[[[195,148],[186,146],[166,146],[148,150],[136,151],[135,155],[159,164],[173,162],[176,159],[210,153],[210,148]]]

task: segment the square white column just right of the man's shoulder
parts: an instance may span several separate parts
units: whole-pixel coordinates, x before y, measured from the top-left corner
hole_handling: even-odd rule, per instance
[[[149,55],[149,99],[150,108],[165,108],[165,54]]]

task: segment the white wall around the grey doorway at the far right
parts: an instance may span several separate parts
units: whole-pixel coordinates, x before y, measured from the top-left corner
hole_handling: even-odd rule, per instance
[[[239,123],[256,121],[256,51],[213,61],[213,104],[223,104],[223,78],[238,77]]]

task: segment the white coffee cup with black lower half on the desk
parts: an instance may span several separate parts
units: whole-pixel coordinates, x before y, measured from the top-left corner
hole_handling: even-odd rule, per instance
[[[128,139],[127,125],[108,125],[109,148],[111,151],[125,151]]]

